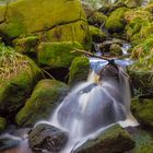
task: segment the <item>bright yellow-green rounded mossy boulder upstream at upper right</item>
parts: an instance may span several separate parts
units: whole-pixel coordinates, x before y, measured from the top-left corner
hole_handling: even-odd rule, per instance
[[[123,13],[126,11],[128,11],[127,8],[119,8],[110,13],[105,24],[105,27],[110,33],[121,32],[125,30],[126,21],[123,19]]]

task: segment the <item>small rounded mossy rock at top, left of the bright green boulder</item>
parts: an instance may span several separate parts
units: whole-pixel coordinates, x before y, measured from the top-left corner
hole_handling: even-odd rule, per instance
[[[90,25],[95,25],[101,27],[105,24],[107,16],[101,12],[94,12],[91,16],[87,17]]]

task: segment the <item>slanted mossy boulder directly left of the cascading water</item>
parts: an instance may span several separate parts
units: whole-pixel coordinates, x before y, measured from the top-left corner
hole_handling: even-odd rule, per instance
[[[68,85],[56,80],[39,81],[25,106],[17,113],[16,123],[34,126],[37,121],[49,119],[68,90]]]

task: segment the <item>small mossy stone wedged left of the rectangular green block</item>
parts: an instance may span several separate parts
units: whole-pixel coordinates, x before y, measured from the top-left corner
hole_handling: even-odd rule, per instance
[[[13,40],[15,49],[25,55],[36,54],[38,43],[38,36],[28,36]]]

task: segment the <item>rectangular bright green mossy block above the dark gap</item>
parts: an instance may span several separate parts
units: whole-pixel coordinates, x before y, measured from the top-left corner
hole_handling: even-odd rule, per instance
[[[50,68],[69,68],[72,60],[82,55],[71,52],[75,48],[83,49],[78,42],[42,43],[38,47],[38,63]]]

